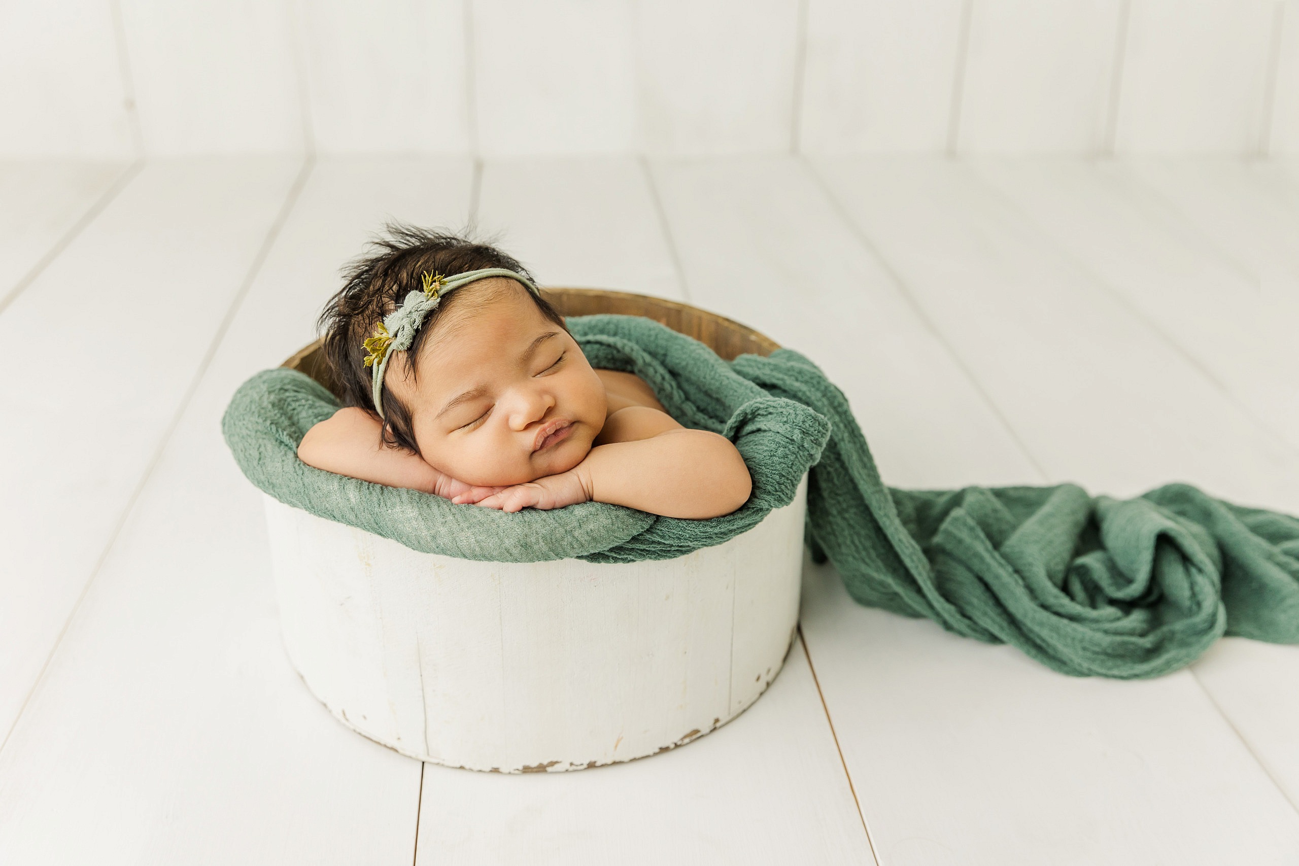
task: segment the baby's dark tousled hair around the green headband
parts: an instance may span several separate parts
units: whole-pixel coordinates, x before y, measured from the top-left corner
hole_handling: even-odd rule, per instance
[[[370,251],[344,266],[343,288],[325,305],[318,322],[318,330],[325,338],[325,358],[343,405],[360,406],[378,417],[370,390],[370,367],[365,366],[368,352],[362,344],[374,332],[374,326],[396,309],[408,292],[422,287],[421,275],[425,271],[455,277],[483,267],[504,267],[531,279],[534,284],[536,282],[513,256],[490,244],[447,231],[425,230],[400,222],[387,223],[383,232],[370,241]],[[413,361],[420,357],[420,348],[433,332],[434,323],[448,309],[455,309],[462,296],[472,295],[468,291],[470,288],[473,286],[451,292],[425,317],[407,349],[412,375],[416,374]],[[538,297],[526,287],[520,288],[536,304],[542,315],[568,330],[564,317],[546,299]],[[410,410],[387,383],[383,386],[383,412],[387,415],[383,425],[385,444],[418,454]]]

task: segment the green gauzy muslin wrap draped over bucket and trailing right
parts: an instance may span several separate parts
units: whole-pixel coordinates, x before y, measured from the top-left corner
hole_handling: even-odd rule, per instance
[[[1168,484],[1118,501],[1074,484],[885,487],[843,393],[798,352],[727,364],[650,319],[570,318],[598,367],[635,373],[690,427],[730,438],[750,501],[709,521],[586,502],[517,514],[307,466],[303,435],[338,401],[292,370],[246,382],[222,428],[244,474],[275,499],[470,560],[627,562],[721,544],[790,502],[804,471],[807,541],[859,602],[1008,643],[1076,676],[1157,676],[1222,634],[1299,643],[1299,519]]]

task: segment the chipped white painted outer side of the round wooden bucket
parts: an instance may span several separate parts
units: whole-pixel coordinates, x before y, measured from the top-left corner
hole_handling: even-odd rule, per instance
[[[284,645],[344,724],[472,770],[594,767],[735,718],[798,621],[807,478],[730,541],[674,560],[473,562],[265,497]]]

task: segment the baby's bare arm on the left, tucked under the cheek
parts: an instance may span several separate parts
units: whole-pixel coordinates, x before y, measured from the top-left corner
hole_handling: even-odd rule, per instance
[[[386,447],[381,430],[379,419],[364,409],[339,409],[307,431],[297,445],[297,458],[327,473],[388,487],[409,487],[447,499],[468,491],[486,496],[499,489],[469,487],[423,462],[418,454]]]

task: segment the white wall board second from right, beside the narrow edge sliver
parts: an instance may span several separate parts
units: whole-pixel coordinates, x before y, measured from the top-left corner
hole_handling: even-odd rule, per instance
[[[1115,148],[1257,153],[1274,0],[1131,0]]]

